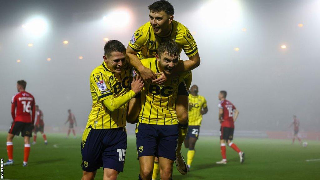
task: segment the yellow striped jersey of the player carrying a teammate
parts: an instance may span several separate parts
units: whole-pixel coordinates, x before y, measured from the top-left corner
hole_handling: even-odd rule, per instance
[[[156,58],[142,59],[141,62],[155,73],[160,72]],[[187,81],[190,78],[192,76],[189,71],[177,76],[168,76],[163,85],[145,83],[141,91],[139,122],[156,125],[178,124],[175,111],[176,99],[178,95],[188,95],[184,80]]]

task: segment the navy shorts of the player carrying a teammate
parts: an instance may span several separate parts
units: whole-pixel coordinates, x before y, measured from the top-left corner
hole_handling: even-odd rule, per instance
[[[153,125],[137,123],[137,152],[141,156],[176,159],[178,125]]]

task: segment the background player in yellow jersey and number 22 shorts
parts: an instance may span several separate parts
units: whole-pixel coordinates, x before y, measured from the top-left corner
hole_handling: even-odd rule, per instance
[[[189,148],[187,153],[187,168],[190,170],[193,157],[195,156],[195,145],[199,138],[202,115],[208,112],[207,101],[198,94],[197,85],[193,85],[189,91],[189,129],[184,140],[184,146]]]

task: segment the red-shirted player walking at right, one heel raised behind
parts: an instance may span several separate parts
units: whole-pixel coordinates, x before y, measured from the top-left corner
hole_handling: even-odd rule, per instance
[[[240,162],[244,162],[244,152],[236,146],[235,143],[232,143],[233,132],[235,129],[235,122],[239,115],[239,111],[236,107],[228,100],[226,100],[227,92],[220,91],[219,100],[221,101],[218,105],[219,107],[219,121],[221,124],[220,127],[220,148],[222,160],[218,161],[217,164],[227,164],[226,156],[226,143],[228,146],[234,149],[240,156]]]

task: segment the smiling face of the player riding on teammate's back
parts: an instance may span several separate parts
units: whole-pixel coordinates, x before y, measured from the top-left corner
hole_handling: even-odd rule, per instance
[[[166,14],[164,11],[149,13],[149,21],[156,35],[166,36],[171,30],[173,16]]]

